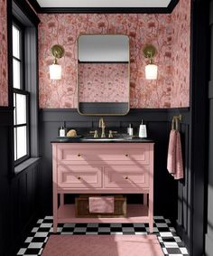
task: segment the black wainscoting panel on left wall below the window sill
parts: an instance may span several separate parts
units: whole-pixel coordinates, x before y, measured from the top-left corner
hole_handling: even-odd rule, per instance
[[[19,249],[20,242],[25,239],[31,223],[38,216],[39,206],[39,168],[32,166],[19,175],[15,175],[11,183],[11,236],[13,253]],[[7,254],[6,254],[7,255]]]

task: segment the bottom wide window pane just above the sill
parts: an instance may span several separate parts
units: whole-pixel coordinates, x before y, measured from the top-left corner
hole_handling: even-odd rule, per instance
[[[26,127],[20,127],[17,129],[17,159],[27,154],[26,146]]]

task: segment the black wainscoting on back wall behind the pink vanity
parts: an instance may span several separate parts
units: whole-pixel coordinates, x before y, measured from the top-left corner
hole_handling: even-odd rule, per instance
[[[189,109],[130,109],[126,116],[104,117],[106,133],[109,128],[126,130],[133,124],[134,133],[138,132],[141,119],[147,125],[148,137],[155,141],[154,151],[154,213],[162,214],[173,220],[178,218],[178,181],[174,181],[166,169],[167,150],[171,119],[182,113],[183,119],[189,121]],[[41,109],[40,110],[40,152],[42,167],[40,175],[41,211],[51,214],[51,140],[58,137],[58,130],[63,122],[68,128],[83,128],[84,132],[98,126],[99,117],[79,115],[77,109]],[[81,129],[82,130],[82,129]],[[187,137],[186,139],[189,139]],[[185,207],[185,206],[184,206]],[[181,214],[181,213],[180,213]],[[184,219],[185,220],[185,219]]]

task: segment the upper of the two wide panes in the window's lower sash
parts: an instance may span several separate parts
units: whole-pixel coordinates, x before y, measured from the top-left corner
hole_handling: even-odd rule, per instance
[[[16,93],[17,125],[26,123],[26,95]]]

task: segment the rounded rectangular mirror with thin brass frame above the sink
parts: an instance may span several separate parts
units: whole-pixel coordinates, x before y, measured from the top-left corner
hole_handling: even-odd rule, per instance
[[[79,113],[125,115],[129,111],[129,38],[80,35],[78,40]]]

